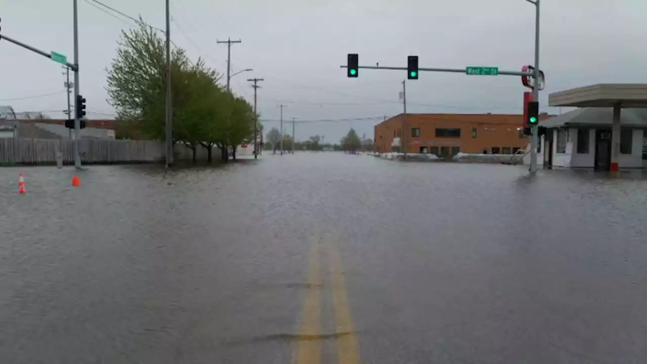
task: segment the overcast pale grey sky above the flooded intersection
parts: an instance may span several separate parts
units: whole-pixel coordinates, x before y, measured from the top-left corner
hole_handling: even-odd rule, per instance
[[[133,17],[164,28],[163,0],[101,0]],[[534,6],[524,0],[171,0],[171,38],[196,60],[226,73],[226,45],[232,45],[232,91],[253,100],[249,77],[265,78],[258,93],[263,119],[373,118],[402,112],[398,93],[404,71],[361,69],[347,78],[346,54],[360,65],[406,66],[418,55],[421,67],[467,65],[520,70],[534,57]],[[120,17],[115,15],[116,17]],[[0,0],[1,33],[72,61],[72,0]],[[88,116],[110,118],[105,67],[115,56],[123,28],[133,23],[79,0],[81,93]],[[647,82],[647,2],[644,0],[542,0],[540,68],[548,93],[602,82]],[[63,70],[57,63],[0,41],[0,105],[16,111],[67,108]],[[57,93],[46,97],[33,97]],[[421,73],[407,82],[411,113],[520,113],[516,76]],[[7,100],[23,98],[21,100]],[[325,135],[338,141],[349,129],[373,135],[381,119],[297,125],[297,139]],[[265,121],[266,130],[278,122]],[[285,125],[291,132],[291,127]]]

